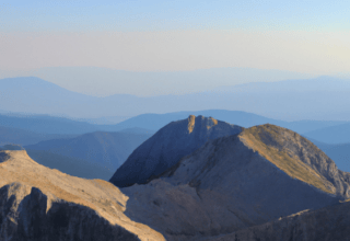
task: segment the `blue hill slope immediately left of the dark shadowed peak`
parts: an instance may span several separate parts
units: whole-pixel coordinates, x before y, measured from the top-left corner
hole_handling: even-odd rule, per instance
[[[114,172],[150,134],[90,133],[70,139],[54,139],[25,146],[27,150],[78,158]]]

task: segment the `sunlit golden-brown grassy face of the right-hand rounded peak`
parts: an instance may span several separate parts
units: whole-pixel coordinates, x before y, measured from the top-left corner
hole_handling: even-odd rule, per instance
[[[240,139],[291,177],[326,193],[350,195],[349,185],[343,183],[346,177],[335,162],[299,134],[266,124],[245,129]]]

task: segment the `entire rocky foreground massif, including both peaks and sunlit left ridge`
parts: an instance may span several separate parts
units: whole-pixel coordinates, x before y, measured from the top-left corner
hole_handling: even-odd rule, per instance
[[[0,240],[350,240],[350,173],[282,127],[189,116],[125,167],[119,190],[0,151]]]

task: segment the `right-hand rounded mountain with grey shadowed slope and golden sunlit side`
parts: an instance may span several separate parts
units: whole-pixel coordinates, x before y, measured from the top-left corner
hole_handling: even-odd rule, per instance
[[[126,215],[167,240],[232,233],[350,196],[350,173],[289,129],[262,125],[208,141],[159,179],[122,188]]]

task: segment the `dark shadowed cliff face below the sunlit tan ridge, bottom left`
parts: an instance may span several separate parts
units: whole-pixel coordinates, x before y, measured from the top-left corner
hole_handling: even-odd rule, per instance
[[[27,193],[30,191],[30,193]],[[23,199],[16,193],[25,193]],[[0,188],[0,239],[16,241],[140,240],[113,226],[93,209],[65,200],[47,211],[47,196],[36,187],[12,183]]]

